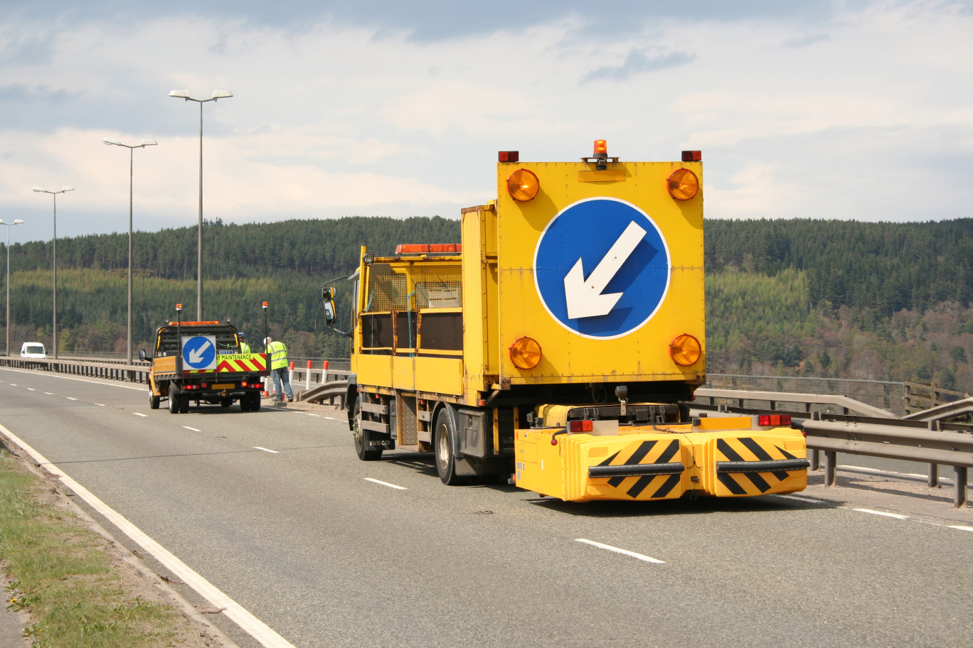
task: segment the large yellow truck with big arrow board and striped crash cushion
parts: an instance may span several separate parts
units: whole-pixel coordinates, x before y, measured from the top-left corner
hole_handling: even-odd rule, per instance
[[[564,500],[807,486],[786,415],[689,418],[704,383],[703,164],[501,152],[461,244],[362,248],[347,403],[361,460],[431,452],[446,484]],[[325,288],[325,319],[336,320]]]

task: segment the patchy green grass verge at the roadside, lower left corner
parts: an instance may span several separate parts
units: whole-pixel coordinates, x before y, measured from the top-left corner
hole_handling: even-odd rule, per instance
[[[0,447],[0,559],[5,602],[29,613],[36,648],[156,648],[182,645],[185,618],[133,594],[104,551],[106,540],[51,498],[51,485]]]

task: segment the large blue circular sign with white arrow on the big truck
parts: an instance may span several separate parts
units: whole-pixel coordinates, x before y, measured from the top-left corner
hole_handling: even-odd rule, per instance
[[[651,320],[670,276],[659,225],[616,198],[568,205],[541,232],[534,251],[534,284],[544,308],[589,338],[622,337]]]

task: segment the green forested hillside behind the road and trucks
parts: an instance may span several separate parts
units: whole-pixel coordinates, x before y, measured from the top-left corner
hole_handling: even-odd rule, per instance
[[[203,236],[204,317],[230,317],[256,339],[266,299],[270,330],[293,356],[336,358],[348,347],[320,324],[324,282],[352,272],[363,244],[390,254],[399,243],[458,241],[459,223],[217,221]],[[195,227],[135,233],[136,348],[176,302],[195,317],[196,240]],[[51,242],[10,252],[11,346],[50,343]],[[125,351],[126,255],[124,234],[58,240],[61,352]],[[935,380],[973,391],[973,219],[707,221],[705,255],[709,371]],[[347,314],[349,295],[336,286]]]

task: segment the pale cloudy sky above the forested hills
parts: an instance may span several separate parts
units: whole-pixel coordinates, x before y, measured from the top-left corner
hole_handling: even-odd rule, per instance
[[[971,217],[973,0],[0,0],[13,242],[458,219],[496,152],[703,152],[708,219]],[[103,138],[135,145],[105,146]],[[0,236],[7,232],[0,231]]]

